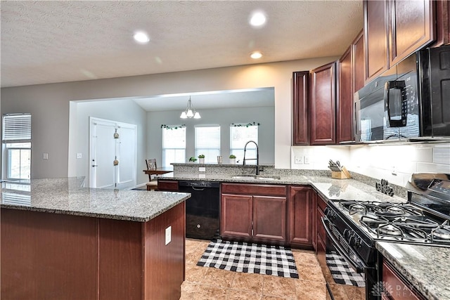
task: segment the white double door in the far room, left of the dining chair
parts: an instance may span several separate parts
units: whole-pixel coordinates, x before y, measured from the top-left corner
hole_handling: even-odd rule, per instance
[[[89,117],[89,186],[136,185],[136,125]]]

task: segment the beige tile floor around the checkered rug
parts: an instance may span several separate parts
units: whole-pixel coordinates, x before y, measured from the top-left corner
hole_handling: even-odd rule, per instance
[[[294,279],[196,266],[208,244],[186,239],[186,280],[180,299],[326,299],[325,278],[314,252],[293,249],[299,273]]]

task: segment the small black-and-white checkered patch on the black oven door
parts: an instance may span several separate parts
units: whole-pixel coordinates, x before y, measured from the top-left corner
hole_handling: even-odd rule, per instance
[[[326,264],[336,283],[365,287],[364,273],[356,273],[339,254],[326,254]]]

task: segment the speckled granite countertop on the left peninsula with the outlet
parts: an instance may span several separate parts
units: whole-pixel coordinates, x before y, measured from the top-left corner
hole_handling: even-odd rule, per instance
[[[191,197],[189,193],[84,188],[84,178],[1,183],[1,208],[146,222]]]

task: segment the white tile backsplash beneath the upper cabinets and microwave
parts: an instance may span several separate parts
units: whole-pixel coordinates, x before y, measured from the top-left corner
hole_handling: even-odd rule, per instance
[[[291,169],[328,169],[329,159],[339,160],[349,171],[404,186],[415,172],[450,174],[450,143],[291,148]]]

